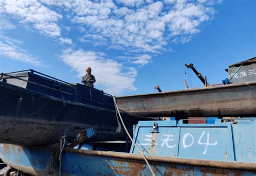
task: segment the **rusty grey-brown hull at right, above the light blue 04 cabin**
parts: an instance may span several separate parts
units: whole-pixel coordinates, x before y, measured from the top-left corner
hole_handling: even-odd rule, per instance
[[[147,117],[251,117],[256,115],[256,82],[122,96],[117,104]]]

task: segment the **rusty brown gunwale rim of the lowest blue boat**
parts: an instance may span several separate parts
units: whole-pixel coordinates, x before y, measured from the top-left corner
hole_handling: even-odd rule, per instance
[[[14,144],[3,144],[11,145]],[[29,147],[36,150],[47,150],[51,151],[51,145],[43,146],[25,146],[25,145],[16,145],[19,147]],[[124,152],[113,152],[113,151],[92,151],[92,150],[82,150],[82,149],[70,149],[68,147],[64,148],[64,153],[77,153],[88,156],[99,156],[106,158],[114,159],[126,159],[126,160],[140,160],[144,162],[143,156],[133,153],[124,153]],[[63,154],[64,154],[63,153]],[[204,160],[204,159],[190,159],[190,158],[170,158],[170,157],[157,157],[157,156],[145,156],[150,163],[166,163],[166,164],[178,164],[178,165],[188,165],[188,166],[197,166],[197,167],[212,167],[212,168],[221,168],[229,170],[239,170],[239,171],[256,171],[256,163],[240,162],[240,161],[218,161],[218,160]],[[4,158],[2,158],[5,164],[9,164]],[[12,164],[14,165],[14,164]],[[154,164],[152,164],[154,165]]]

